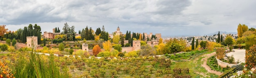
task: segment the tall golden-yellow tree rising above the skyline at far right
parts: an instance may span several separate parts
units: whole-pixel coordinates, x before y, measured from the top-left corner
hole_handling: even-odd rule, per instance
[[[246,32],[248,30],[248,26],[243,24],[238,24],[238,27],[237,27],[237,34],[238,34],[238,37],[242,37],[243,36],[243,33]]]

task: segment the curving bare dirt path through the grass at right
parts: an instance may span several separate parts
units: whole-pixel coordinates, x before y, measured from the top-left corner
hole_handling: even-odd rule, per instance
[[[204,58],[202,58],[201,61],[204,61],[202,67],[204,67],[209,73],[213,73],[213,74],[217,74],[217,75],[222,75],[223,73],[222,72],[218,72],[218,71],[215,71],[215,70],[211,70],[211,68],[207,65],[207,59],[210,58],[211,56],[215,55],[216,52],[213,52],[211,54],[205,54],[203,55]]]

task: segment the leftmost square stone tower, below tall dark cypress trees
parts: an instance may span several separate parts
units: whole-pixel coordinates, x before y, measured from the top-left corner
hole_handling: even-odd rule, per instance
[[[27,47],[29,47],[29,48],[33,48],[34,47],[34,50],[36,50],[37,46],[38,46],[37,36],[29,36],[29,37],[27,37]]]

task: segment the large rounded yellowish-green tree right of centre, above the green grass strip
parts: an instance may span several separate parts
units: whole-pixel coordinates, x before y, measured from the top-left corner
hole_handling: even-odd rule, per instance
[[[171,43],[170,50],[174,53],[174,56],[176,56],[176,52],[180,52],[182,49],[184,49],[184,46],[179,43]]]

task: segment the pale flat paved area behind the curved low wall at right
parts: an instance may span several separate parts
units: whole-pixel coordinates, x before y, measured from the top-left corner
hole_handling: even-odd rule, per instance
[[[227,56],[234,55],[235,61],[239,59],[242,63],[245,63],[245,49],[234,49],[235,52],[227,53]]]

